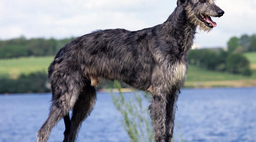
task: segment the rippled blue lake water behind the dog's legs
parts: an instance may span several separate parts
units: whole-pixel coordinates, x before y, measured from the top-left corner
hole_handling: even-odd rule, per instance
[[[0,142],[36,141],[50,100],[50,93],[0,95]],[[129,142],[120,118],[110,94],[98,93],[77,141]],[[256,88],[183,89],[175,123],[175,137],[180,133],[179,123],[185,142],[255,142]],[[62,141],[63,131],[60,121],[49,141]]]

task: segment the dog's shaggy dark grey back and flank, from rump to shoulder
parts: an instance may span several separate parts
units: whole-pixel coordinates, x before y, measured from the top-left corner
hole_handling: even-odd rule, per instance
[[[147,30],[100,30],[75,39],[54,58],[48,69],[50,82],[55,80],[54,71],[72,73],[69,71],[76,69],[85,79],[117,79],[141,90],[148,89],[154,59],[148,43],[152,37]]]

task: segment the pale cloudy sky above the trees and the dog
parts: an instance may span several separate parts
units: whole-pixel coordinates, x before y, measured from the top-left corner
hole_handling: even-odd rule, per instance
[[[226,47],[232,36],[256,34],[256,0],[216,0],[225,11],[210,33],[196,34],[201,47]],[[68,38],[96,29],[140,30],[163,23],[176,0],[1,0],[0,39]]]

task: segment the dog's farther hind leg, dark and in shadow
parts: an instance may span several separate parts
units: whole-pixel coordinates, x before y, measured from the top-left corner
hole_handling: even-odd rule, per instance
[[[79,95],[78,100],[73,108],[71,118],[71,131],[67,142],[74,142],[77,133],[84,119],[90,115],[96,101],[96,89],[90,84],[86,84],[83,92]],[[65,139],[65,138],[64,138]]]

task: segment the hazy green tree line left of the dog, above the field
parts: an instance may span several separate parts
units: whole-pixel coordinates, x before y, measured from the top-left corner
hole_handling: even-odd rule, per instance
[[[26,39],[24,36],[20,36],[19,38],[10,40],[0,40],[0,59],[21,56],[56,55],[60,48],[74,39],[74,37],[60,40],[54,38]]]

